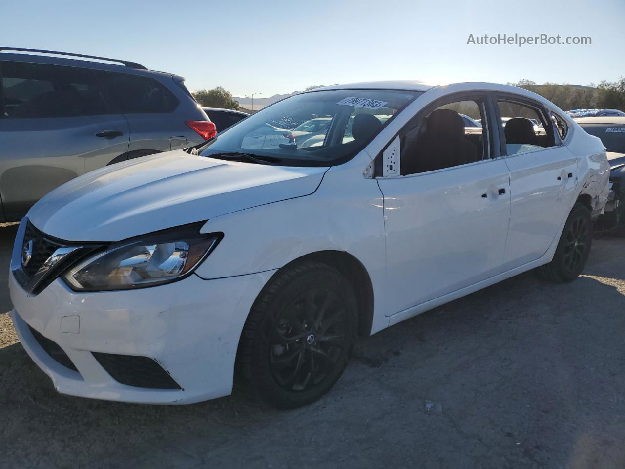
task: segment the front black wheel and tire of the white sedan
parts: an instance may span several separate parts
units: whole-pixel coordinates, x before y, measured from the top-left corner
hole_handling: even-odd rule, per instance
[[[341,273],[317,262],[287,267],[267,283],[247,318],[242,376],[276,408],[307,405],[341,377],[356,331],[356,296]]]

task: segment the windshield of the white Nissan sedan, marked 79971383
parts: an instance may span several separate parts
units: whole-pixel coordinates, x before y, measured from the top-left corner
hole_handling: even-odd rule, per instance
[[[198,151],[202,156],[242,158],[259,164],[341,164],[419,94],[380,89],[297,94],[252,114]]]

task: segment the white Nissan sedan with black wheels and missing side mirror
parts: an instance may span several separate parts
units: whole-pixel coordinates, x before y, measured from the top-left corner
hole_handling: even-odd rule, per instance
[[[311,119],[327,124],[296,139]],[[237,371],[301,406],[356,336],[533,268],[574,280],[609,171],[598,138],[524,89],[316,89],[42,198],[17,231],[12,318],[61,393],[192,403]]]

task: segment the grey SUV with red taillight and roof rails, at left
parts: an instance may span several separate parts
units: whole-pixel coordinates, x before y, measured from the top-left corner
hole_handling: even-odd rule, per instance
[[[4,221],[76,176],[216,133],[182,77],[138,63],[0,48],[0,76]]]

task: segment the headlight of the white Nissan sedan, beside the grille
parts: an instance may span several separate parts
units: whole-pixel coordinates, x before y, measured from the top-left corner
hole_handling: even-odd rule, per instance
[[[127,290],[169,283],[189,275],[221,240],[201,235],[202,223],[121,241],[70,268],[63,279],[73,290]]]

